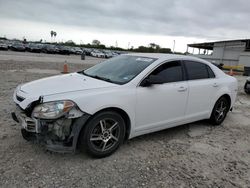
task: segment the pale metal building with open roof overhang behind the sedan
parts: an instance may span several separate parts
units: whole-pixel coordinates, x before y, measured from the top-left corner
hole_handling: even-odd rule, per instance
[[[187,52],[216,64],[250,67],[250,39],[188,44]]]

